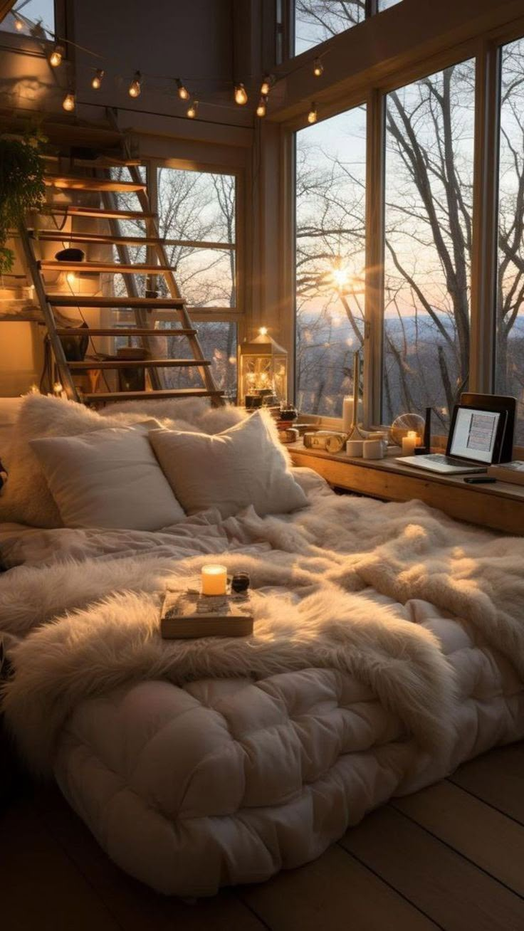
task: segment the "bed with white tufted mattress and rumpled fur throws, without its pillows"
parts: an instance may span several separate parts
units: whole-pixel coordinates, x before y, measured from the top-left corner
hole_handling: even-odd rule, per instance
[[[108,855],[166,894],[299,866],[524,735],[524,542],[293,478],[307,506],[285,515],[0,528],[7,723]],[[162,641],[165,588],[219,557],[250,574],[253,638]]]

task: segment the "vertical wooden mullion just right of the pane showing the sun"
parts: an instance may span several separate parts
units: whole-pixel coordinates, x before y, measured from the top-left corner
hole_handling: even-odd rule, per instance
[[[364,423],[382,421],[384,97],[368,96],[366,148],[366,324],[364,331]]]

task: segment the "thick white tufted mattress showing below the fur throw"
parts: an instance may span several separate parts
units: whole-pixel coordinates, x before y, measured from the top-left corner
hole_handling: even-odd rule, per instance
[[[457,674],[445,753],[421,751],[368,687],[332,669],[147,681],[76,708],[60,789],[109,856],[161,892],[209,896],[319,856],[392,795],[524,735],[511,664],[428,603],[402,610],[437,634]]]

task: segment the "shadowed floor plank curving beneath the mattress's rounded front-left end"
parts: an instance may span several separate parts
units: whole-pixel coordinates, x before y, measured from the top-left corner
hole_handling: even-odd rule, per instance
[[[262,922],[232,890],[223,890],[216,897],[188,905],[179,898],[161,896],[133,880],[105,855],[81,819],[64,803],[58,790],[47,790],[40,799],[40,805],[56,843],[71,858],[125,931],[173,931],[174,928],[183,928],[183,931],[263,931]]]

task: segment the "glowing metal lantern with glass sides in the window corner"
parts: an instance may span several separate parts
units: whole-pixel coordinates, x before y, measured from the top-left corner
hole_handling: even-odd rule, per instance
[[[288,400],[288,353],[261,327],[259,335],[238,346],[238,403],[247,408]]]

